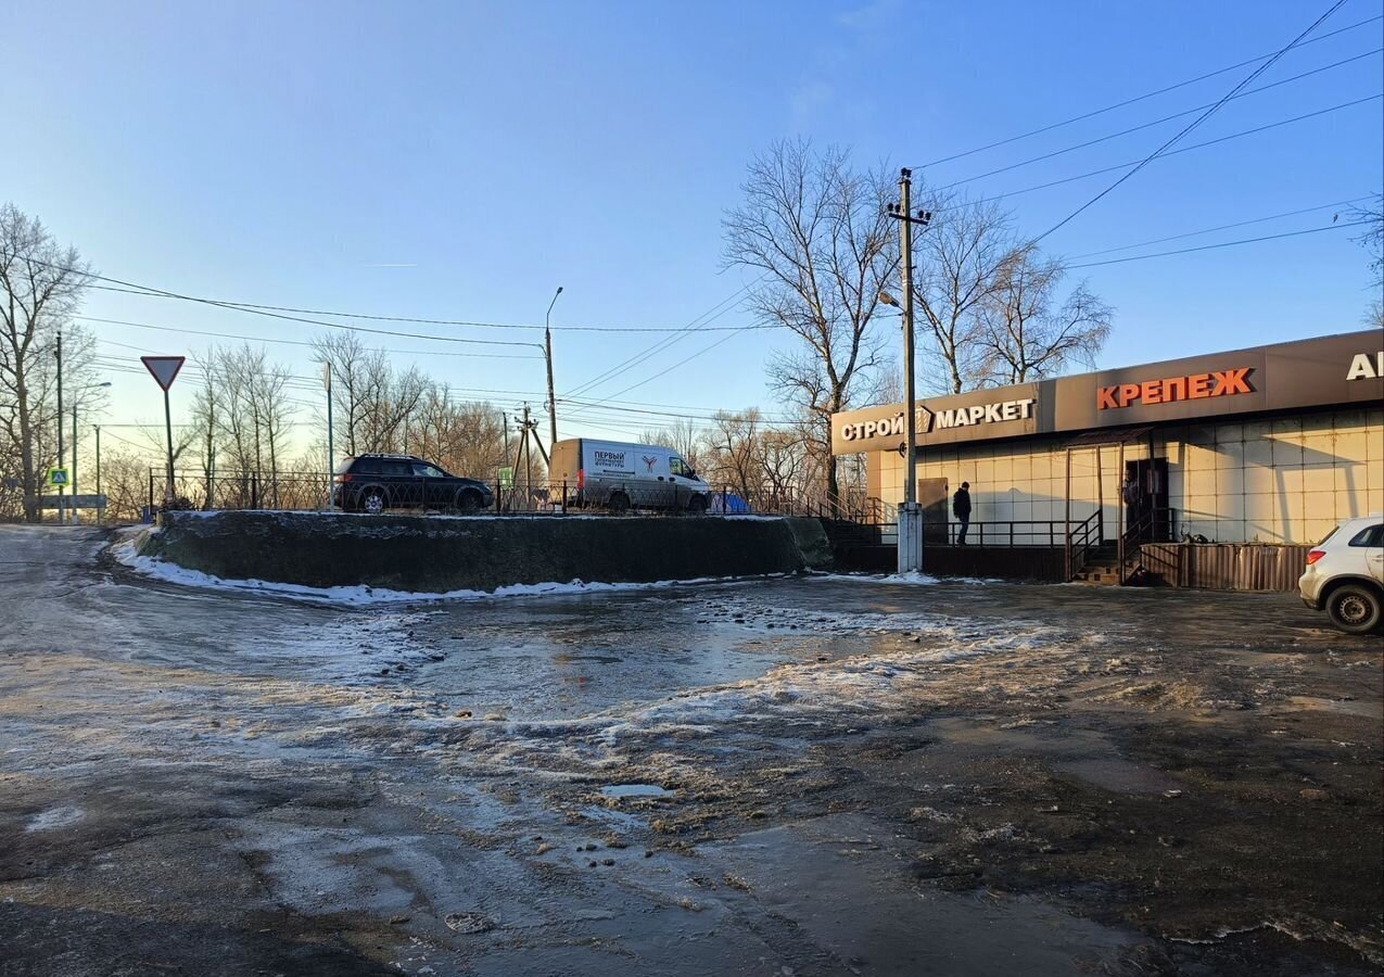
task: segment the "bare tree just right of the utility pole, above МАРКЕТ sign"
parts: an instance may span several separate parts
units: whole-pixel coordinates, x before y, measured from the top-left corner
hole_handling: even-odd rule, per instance
[[[977,313],[1013,253],[1010,217],[994,203],[940,202],[915,238],[913,298],[920,349],[936,365],[931,386],[960,393],[974,386],[983,356]]]

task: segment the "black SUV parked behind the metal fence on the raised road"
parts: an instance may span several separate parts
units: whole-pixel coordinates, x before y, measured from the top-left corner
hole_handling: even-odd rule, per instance
[[[385,509],[479,512],[494,505],[484,482],[448,475],[422,458],[363,454],[336,466],[332,504],[378,516]]]

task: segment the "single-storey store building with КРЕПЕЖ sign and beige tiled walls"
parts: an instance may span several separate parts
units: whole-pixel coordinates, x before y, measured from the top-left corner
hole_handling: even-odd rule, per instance
[[[1316,542],[1384,511],[1384,332],[1369,329],[918,403],[925,538]],[[866,455],[868,494],[904,497],[904,405],[832,418],[832,450]]]

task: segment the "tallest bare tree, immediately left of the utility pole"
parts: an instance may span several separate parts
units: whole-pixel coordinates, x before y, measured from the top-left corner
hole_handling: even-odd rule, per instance
[[[797,141],[756,156],[742,190],[745,202],[722,221],[725,266],[760,271],[749,307],[801,339],[772,357],[770,383],[807,412],[835,500],[830,417],[855,403],[882,361],[879,293],[898,268],[891,184],[851,169],[844,151]]]

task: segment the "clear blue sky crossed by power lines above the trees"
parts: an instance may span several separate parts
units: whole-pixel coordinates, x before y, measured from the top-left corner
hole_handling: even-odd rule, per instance
[[[933,184],[951,183],[1214,101],[1253,65],[923,167],[1266,54],[1329,6],[10,4],[0,32],[8,134],[0,201],[42,217],[101,274],[192,295],[541,322],[563,285],[555,324],[682,327],[747,280],[721,270],[720,220],[739,201],[747,159],[772,140],[839,144],[862,165],[909,165]],[[1377,0],[1348,0],[1319,33],[1380,14]],[[1257,84],[1374,51],[1381,37],[1374,19],[1308,44]],[[1381,57],[1372,54],[1236,100],[1186,141],[1381,90]],[[1384,181],[1380,105],[1156,162],[1045,244],[1082,255],[1376,192]],[[1181,125],[966,185],[998,194],[1138,159]],[[1016,226],[1045,230],[1113,177],[1009,198]],[[1146,250],[1301,230],[1329,224],[1333,213]],[[1366,256],[1349,234],[1075,273],[1117,307],[1102,365],[1359,328],[1372,293]],[[1109,257],[1131,253],[1139,252]],[[84,311],[280,339],[320,332],[113,292],[93,292]],[[713,324],[747,321],[731,307]],[[208,342],[91,328],[112,357],[197,353]],[[639,385],[619,399],[772,411],[763,363],[783,336],[738,335],[677,365],[724,335],[692,334],[587,396]],[[657,339],[559,334],[559,396]],[[417,339],[378,345],[457,351]],[[313,372],[300,347],[270,349],[300,375]],[[505,390],[489,394],[501,405],[543,399],[537,358],[396,358],[465,390]],[[112,381],[108,422],[161,419],[149,378]],[[174,387],[174,403],[180,394],[190,400],[190,387]],[[588,412],[587,423],[606,426],[562,426],[616,436],[649,421],[656,418]]]

